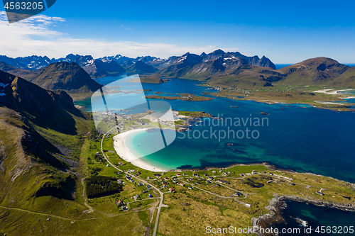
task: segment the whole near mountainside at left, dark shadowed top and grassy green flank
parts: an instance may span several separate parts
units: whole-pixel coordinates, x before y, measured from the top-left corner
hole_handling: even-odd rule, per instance
[[[0,71],[1,205],[35,208],[41,196],[50,196],[43,204],[72,199],[76,176],[47,135],[87,133],[87,120],[65,91],[42,89]]]

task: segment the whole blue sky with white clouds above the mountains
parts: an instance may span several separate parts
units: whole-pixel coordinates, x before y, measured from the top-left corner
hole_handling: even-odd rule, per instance
[[[58,0],[43,12],[46,23],[1,22],[9,43],[0,38],[0,55],[165,58],[222,48],[276,64],[320,56],[355,63],[354,9],[355,1]]]

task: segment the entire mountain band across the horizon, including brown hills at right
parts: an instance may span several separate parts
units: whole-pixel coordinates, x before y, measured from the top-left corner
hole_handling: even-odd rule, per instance
[[[275,64],[265,56],[247,57],[223,50],[201,55],[187,52],[168,59],[122,55],[94,59],[73,54],[51,60],[40,56],[0,56],[0,69],[45,89],[69,92],[95,91],[99,84],[92,79],[122,73],[138,73],[141,81],[148,83],[162,83],[162,78],[181,78],[209,82],[212,86],[249,89],[274,84],[355,87],[354,67],[330,58],[317,57],[276,70]]]

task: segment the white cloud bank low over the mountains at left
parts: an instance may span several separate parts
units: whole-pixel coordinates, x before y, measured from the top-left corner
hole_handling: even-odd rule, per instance
[[[127,57],[152,55],[167,58],[171,55],[182,55],[185,52],[208,53],[218,48],[216,45],[189,47],[167,43],[107,42],[70,38],[64,33],[50,29],[50,26],[64,21],[65,19],[60,17],[38,15],[9,24],[6,13],[0,11],[0,55],[9,57],[47,55],[58,58],[74,53],[93,57],[121,54]],[[237,48],[222,48],[222,50],[235,51]]]

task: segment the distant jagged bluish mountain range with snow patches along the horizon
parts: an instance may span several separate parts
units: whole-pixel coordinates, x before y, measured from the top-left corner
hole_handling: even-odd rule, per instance
[[[154,73],[163,69],[167,69],[170,72],[173,68],[181,68],[185,65],[204,68],[205,64],[211,64],[215,60],[224,60],[222,67],[219,70],[232,69],[237,65],[250,64],[261,67],[271,67],[275,69],[275,64],[268,60],[266,57],[261,59],[258,56],[247,57],[241,55],[239,52],[224,52],[222,50],[216,50],[209,54],[202,53],[201,55],[195,55],[187,52],[182,56],[173,56],[168,59],[160,59],[158,57],[124,57],[121,55],[101,57],[94,59],[90,55],[67,55],[59,59],[50,59],[42,56],[29,56],[29,57],[16,57],[11,58],[4,55],[0,55],[0,62],[5,62],[13,67],[26,70],[36,70],[48,67],[48,65],[56,62],[76,62],[79,64],[92,78],[100,78],[105,76],[116,76],[124,72],[129,73]],[[168,67],[172,67],[168,69]],[[213,70],[213,69],[212,69]]]

